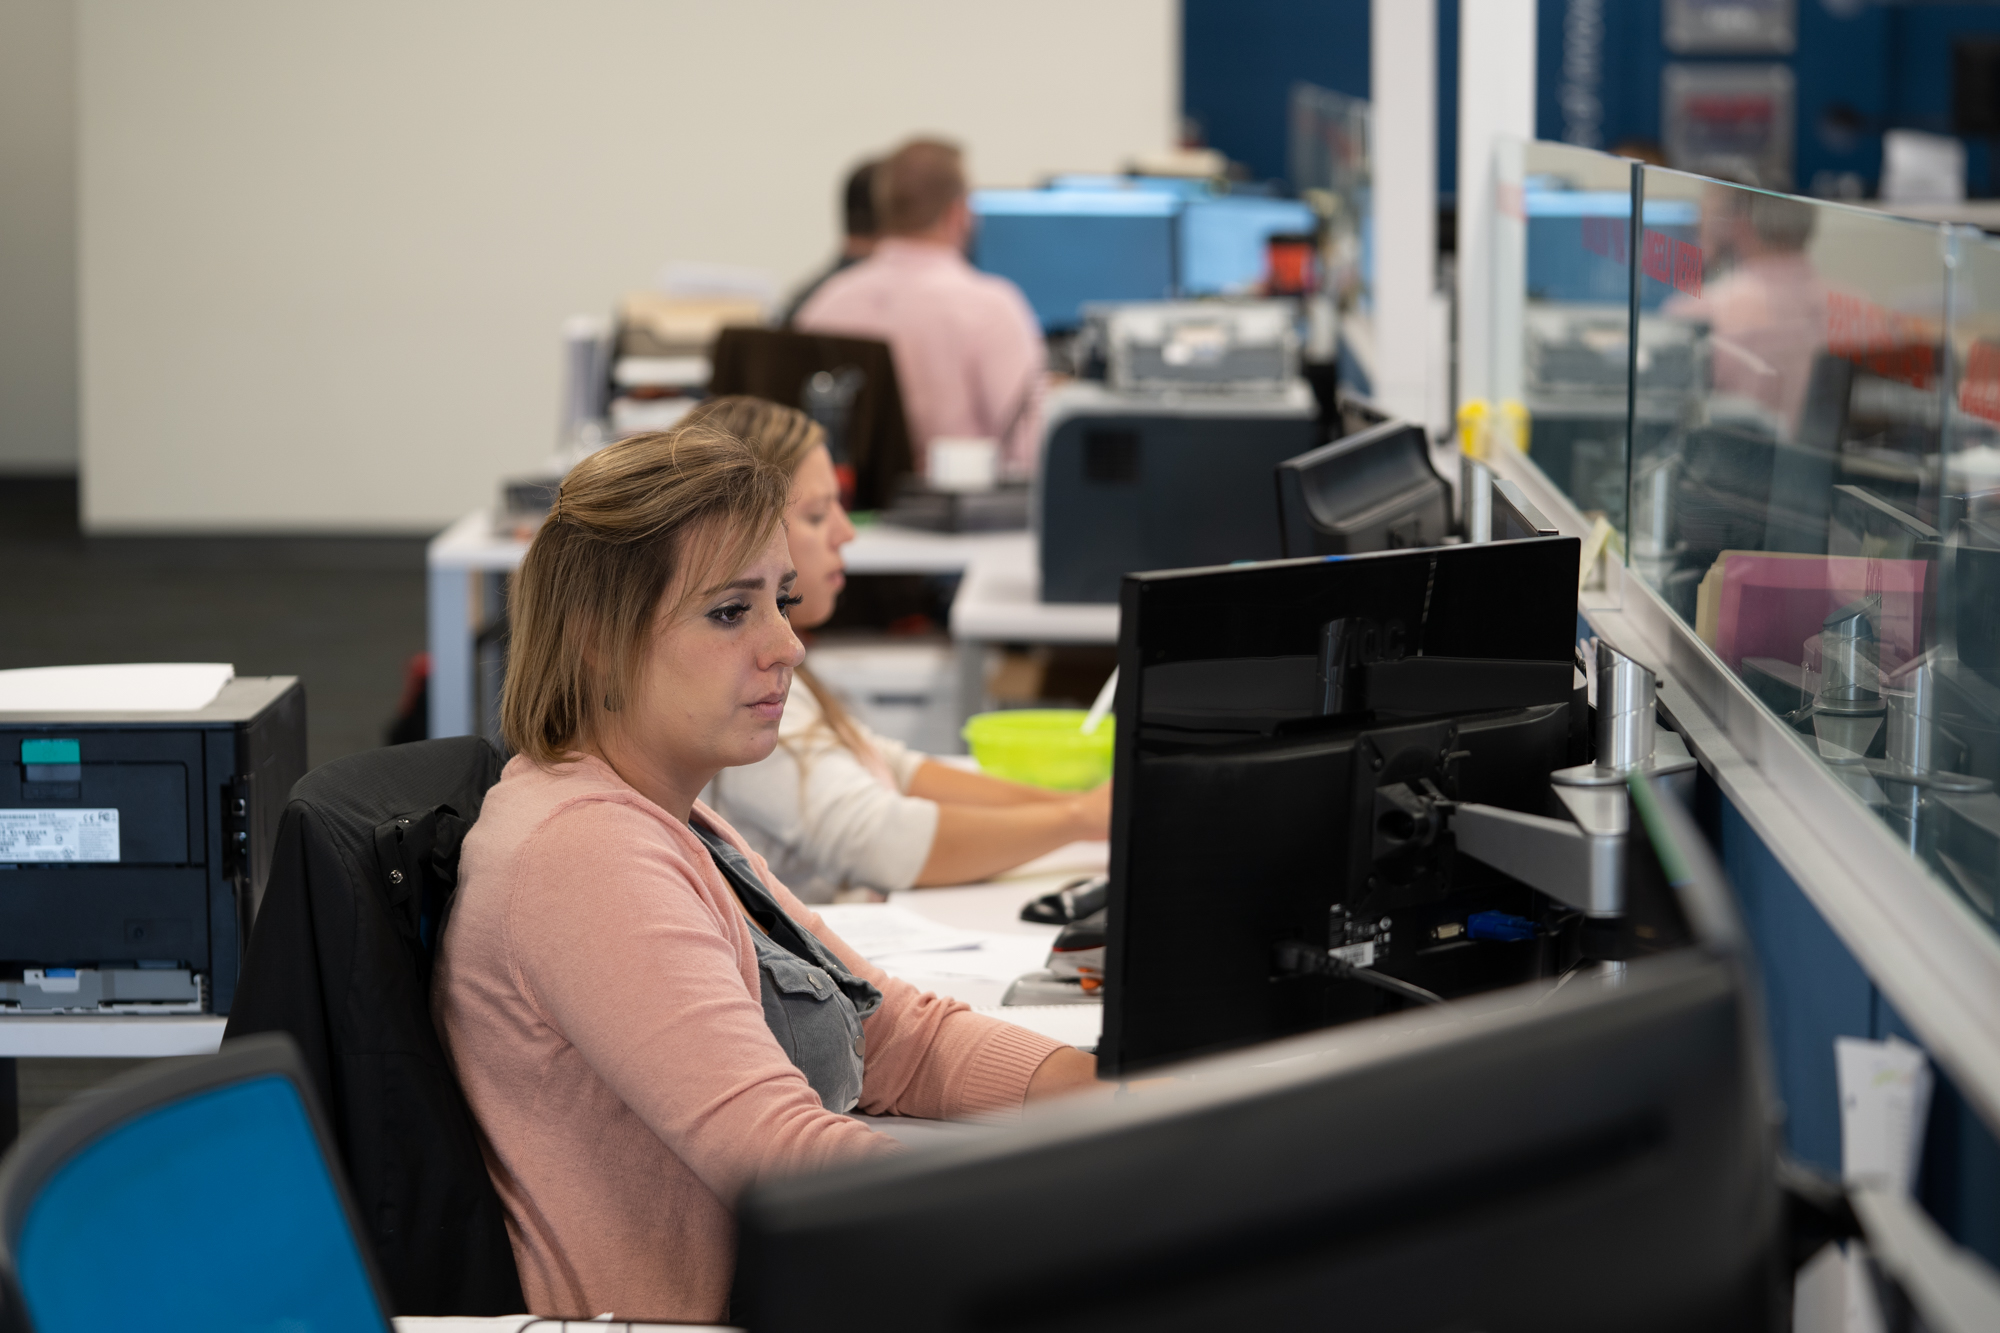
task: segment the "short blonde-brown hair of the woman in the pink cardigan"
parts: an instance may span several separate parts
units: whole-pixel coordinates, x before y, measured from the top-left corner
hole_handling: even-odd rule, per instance
[[[506,743],[554,765],[594,741],[602,715],[640,689],[662,610],[672,618],[728,582],[784,520],[790,488],[714,424],[636,434],[578,462],[514,574]]]

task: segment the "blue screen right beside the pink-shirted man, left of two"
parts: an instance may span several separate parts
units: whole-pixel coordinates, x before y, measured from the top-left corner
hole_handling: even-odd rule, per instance
[[[1174,294],[1180,200],[1152,190],[974,190],[972,262],[1012,280],[1048,332],[1100,300]]]

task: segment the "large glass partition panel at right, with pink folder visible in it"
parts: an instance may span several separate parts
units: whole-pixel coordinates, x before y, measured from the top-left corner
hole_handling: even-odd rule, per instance
[[[1990,396],[2000,418],[2000,256],[1656,168],[1640,218],[1636,364],[1652,380],[1630,572],[1992,919],[2000,821],[1972,769],[1996,763],[1974,751],[2000,731],[1972,715],[2000,715],[1980,713],[1990,681],[1962,648],[1968,598],[2000,614],[1974,554],[1992,418],[1966,406]],[[1950,280],[1954,244],[1968,252]]]

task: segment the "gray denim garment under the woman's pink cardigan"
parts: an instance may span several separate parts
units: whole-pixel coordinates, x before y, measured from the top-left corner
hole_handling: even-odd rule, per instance
[[[862,1099],[862,1057],[868,1051],[862,1019],[882,1005],[882,993],[842,967],[812,931],[786,917],[740,851],[700,825],[688,827],[708,845],[744,911],[764,927],[750,939],[770,1035],[828,1111],[852,1111]]]

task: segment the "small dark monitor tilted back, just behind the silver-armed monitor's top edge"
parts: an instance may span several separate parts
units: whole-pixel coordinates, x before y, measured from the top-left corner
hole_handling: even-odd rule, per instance
[[[1450,530],[1452,490],[1422,426],[1382,422],[1278,464],[1288,556],[1436,546]]]

